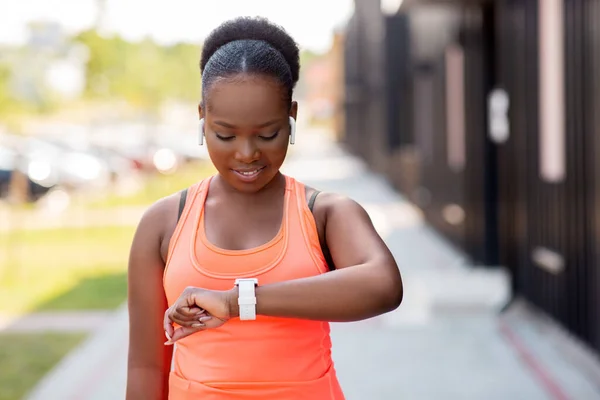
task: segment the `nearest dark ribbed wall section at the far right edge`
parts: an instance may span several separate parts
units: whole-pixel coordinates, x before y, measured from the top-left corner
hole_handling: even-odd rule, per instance
[[[544,85],[554,84],[543,76],[551,75],[544,67],[553,61],[542,59],[547,56],[542,24],[549,24],[542,20],[548,18],[542,7],[548,6],[513,0],[496,9],[497,85],[511,99],[510,138],[499,146],[498,158],[500,218],[505,221],[501,254],[516,267],[518,293],[600,349],[600,303],[595,297],[600,291],[600,231],[595,222],[600,209],[600,2],[560,4],[556,17],[562,27],[547,29],[564,33],[558,42],[546,40],[552,47],[564,43],[559,54],[563,71],[555,82],[561,87],[545,91]],[[560,119],[542,109],[544,96],[560,100],[546,111],[564,114],[558,130],[550,124]]]

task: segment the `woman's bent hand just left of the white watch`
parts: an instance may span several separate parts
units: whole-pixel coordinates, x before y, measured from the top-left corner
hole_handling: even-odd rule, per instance
[[[232,314],[234,291],[186,288],[165,312],[164,329],[168,339],[165,345],[202,330],[218,328],[227,322]],[[173,324],[179,325],[179,328],[175,329]]]

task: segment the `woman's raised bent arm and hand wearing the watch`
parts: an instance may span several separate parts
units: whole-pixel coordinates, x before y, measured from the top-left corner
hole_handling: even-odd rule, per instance
[[[334,194],[321,194],[318,203],[324,213],[325,240],[336,270],[264,286],[259,282],[257,314],[346,322],[396,309],[403,295],[400,271],[367,212],[355,201]],[[222,323],[219,321],[239,315],[237,298],[237,288],[227,291],[187,288],[165,313],[165,331],[174,342],[216,327]],[[217,320],[192,327],[198,321],[184,318],[178,312],[186,307],[199,307]],[[175,331],[173,323],[181,328]]]

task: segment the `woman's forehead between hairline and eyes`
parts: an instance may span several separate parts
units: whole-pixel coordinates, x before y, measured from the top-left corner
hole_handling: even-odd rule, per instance
[[[287,114],[284,88],[276,79],[236,75],[214,82],[208,90],[207,112],[232,123],[261,123]]]

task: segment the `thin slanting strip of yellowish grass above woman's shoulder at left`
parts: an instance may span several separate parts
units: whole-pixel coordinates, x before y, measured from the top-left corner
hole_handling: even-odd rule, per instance
[[[214,166],[208,161],[192,162],[182,165],[172,175],[156,174],[149,177],[147,183],[136,193],[126,196],[109,194],[102,199],[86,204],[86,206],[90,208],[110,208],[150,205],[156,200],[185,189],[215,172]]]

